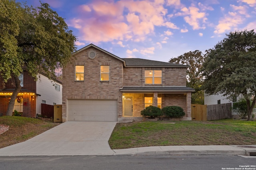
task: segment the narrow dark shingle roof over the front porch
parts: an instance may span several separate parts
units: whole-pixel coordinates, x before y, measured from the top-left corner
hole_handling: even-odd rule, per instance
[[[124,86],[120,89],[121,92],[194,92],[195,90],[190,87],[176,86],[176,87],[156,87],[156,86]]]

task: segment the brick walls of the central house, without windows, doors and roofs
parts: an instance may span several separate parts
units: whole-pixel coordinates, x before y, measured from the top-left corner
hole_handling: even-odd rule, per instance
[[[94,51],[96,57],[90,59],[88,53]],[[84,81],[75,80],[75,66],[84,66]],[[110,66],[110,80],[100,81],[100,66]],[[118,118],[124,117],[123,96],[133,97],[133,116],[142,117],[140,111],[144,109],[145,94],[154,96],[154,106],[157,106],[157,97],[162,97],[162,107],[180,106],[184,109],[186,117],[191,118],[190,92],[136,92],[122,93],[123,86],[150,86],[145,85],[145,70],[162,70],[162,84],[158,86],[185,86],[186,67],[126,67],[122,59],[113,57],[110,53],[88,46],[75,53],[70,62],[63,68],[62,90],[62,119],[66,121],[67,102],[69,99],[97,100],[112,99],[118,101]],[[153,85],[151,85],[153,86]]]

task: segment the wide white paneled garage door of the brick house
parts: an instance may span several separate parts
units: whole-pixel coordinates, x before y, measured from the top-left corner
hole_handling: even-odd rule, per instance
[[[117,100],[68,100],[69,121],[117,121]]]

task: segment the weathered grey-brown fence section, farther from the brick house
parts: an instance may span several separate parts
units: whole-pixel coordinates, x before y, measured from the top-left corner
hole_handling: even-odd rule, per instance
[[[232,116],[232,104],[214,104],[207,106],[207,120],[230,119]]]

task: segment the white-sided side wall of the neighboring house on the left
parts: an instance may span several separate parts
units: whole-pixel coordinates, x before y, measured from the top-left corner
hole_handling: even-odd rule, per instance
[[[56,105],[62,104],[62,83],[49,80],[48,77],[40,74],[36,81],[36,114],[41,114],[41,104]]]

